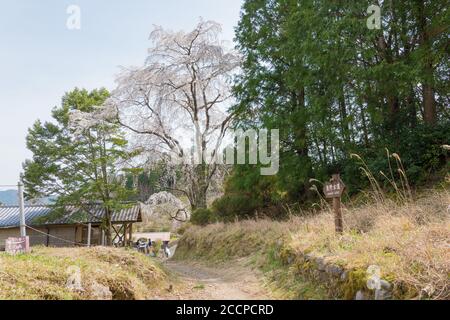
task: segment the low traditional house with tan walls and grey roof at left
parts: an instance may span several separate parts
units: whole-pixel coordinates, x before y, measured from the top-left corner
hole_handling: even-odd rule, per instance
[[[53,247],[102,245],[105,243],[101,229],[105,210],[100,205],[85,206],[83,210],[64,208],[57,214],[51,206],[25,206],[25,224],[30,245]],[[133,223],[142,222],[140,205],[133,205],[112,214],[113,243],[125,246],[133,238]],[[89,236],[90,231],[90,236]],[[18,206],[0,206],[0,250],[5,240],[20,236],[20,211]]]

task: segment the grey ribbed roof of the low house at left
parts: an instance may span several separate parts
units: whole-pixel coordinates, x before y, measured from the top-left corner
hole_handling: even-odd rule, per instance
[[[88,213],[89,212],[89,213]],[[67,225],[80,223],[100,224],[105,216],[101,205],[87,205],[83,210],[67,206],[62,214],[58,214],[51,206],[25,206],[25,224],[29,226]],[[132,205],[120,211],[114,211],[112,222],[141,222],[140,205]],[[15,228],[20,226],[18,206],[0,206],[0,228]]]

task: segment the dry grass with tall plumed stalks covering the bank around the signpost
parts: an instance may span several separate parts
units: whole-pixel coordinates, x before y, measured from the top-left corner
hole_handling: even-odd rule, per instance
[[[320,255],[346,268],[378,265],[393,282],[396,297],[450,299],[450,192],[414,195],[400,157],[388,150],[386,155],[389,171],[380,174],[393,193],[382,188],[359,155],[352,155],[371,190],[362,205],[343,207],[342,235],[335,233],[333,213],[313,187],[320,196],[314,214],[291,214],[284,222],[258,219],[191,228],[180,241],[181,258],[230,260],[262,254],[283,241],[298,254]]]

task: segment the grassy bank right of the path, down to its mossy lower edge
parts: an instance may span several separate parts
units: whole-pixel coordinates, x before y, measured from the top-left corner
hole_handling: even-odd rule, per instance
[[[317,298],[323,288],[299,281],[299,270],[305,266],[286,266],[280,258],[286,253],[295,257],[309,253],[348,270],[379,266],[382,277],[393,281],[396,298],[414,298],[425,290],[431,298],[449,299],[449,203],[448,192],[433,191],[402,205],[383,199],[377,205],[344,209],[343,236],[334,234],[327,210],[281,223],[260,220],[192,227],[180,240],[176,258],[220,262],[250,256],[284,297]],[[320,282],[316,284],[320,287]],[[327,290],[328,297],[341,294]]]

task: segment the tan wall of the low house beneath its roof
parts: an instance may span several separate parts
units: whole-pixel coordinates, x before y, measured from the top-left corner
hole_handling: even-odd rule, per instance
[[[50,247],[70,247],[74,245],[73,243],[80,242],[82,239],[82,229],[77,226],[50,226],[48,230],[47,228],[36,229],[43,233],[27,229],[27,235],[30,237],[30,246],[48,245]],[[47,232],[51,236],[47,236]],[[5,241],[7,238],[19,236],[20,228],[0,229],[0,250],[5,250]]]

